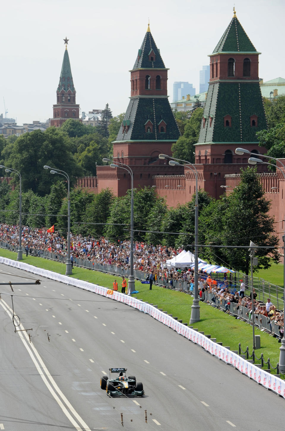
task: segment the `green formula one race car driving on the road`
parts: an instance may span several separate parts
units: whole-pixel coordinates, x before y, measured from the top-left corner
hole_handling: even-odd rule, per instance
[[[129,395],[142,397],[144,390],[141,382],[137,382],[135,376],[126,376],[127,368],[109,368],[108,376],[102,376],[101,389],[105,389],[110,397],[126,397]],[[112,374],[118,374],[117,378],[111,378]]]

